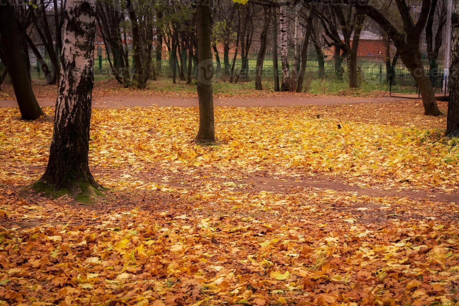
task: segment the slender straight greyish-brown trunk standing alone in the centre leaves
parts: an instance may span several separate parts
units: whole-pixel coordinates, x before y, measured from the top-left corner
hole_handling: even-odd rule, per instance
[[[210,36],[210,8],[208,3],[201,1],[196,5],[196,22],[198,35],[198,83],[199,98],[199,131],[196,136],[198,143],[215,142],[215,126],[213,117],[213,62]]]

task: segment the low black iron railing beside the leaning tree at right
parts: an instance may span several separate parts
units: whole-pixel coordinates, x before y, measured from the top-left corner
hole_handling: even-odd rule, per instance
[[[449,76],[443,74],[428,75],[433,91],[436,95],[449,94]],[[393,74],[389,78],[389,95],[418,95],[421,93],[418,84],[411,74]]]

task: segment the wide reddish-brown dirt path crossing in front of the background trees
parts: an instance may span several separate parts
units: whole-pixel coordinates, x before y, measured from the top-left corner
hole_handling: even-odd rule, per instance
[[[55,99],[39,98],[37,99],[40,106],[54,106]],[[313,97],[313,98],[266,98],[260,99],[215,99],[215,106],[234,106],[234,107],[256,107],[256,106],[301,106],[301,105],[343,105],[343,104],[360,104],[360,103],[391,103],[402,101],[401,98],[384,97],[384,98],[349,98],[349,97]],[[0,100],[0,107],[15,107],[16,100]],[[123,96],[106,96],[93,101],[93,107],[150,107],[150,106],[198,106],[196,98],[167,98],[167,97],[123,97]]]

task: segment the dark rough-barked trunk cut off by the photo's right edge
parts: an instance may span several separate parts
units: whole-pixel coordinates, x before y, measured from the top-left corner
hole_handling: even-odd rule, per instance
[[[449,67],[449,101],[446,134],[459,136],[459,1],[453,1],[451,67]]]

